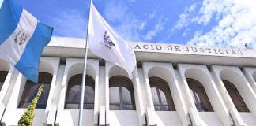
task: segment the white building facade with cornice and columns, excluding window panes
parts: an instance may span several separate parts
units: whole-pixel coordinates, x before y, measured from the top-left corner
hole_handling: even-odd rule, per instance
[[[84,109],[84,125],[256,125],[256,50],[160,43],[130,43],[130,46],[134,47],[137,57],[137,68],[130,79],[136,109],[110,109],[109,79],[128,77],[128,74],[89,52],[86,72],[95,81],[95,95],[94,109]],[[78,109],[65,109],[65,101],[70,78],[82,73],[84,50],[85,39],[64,37],[53,37],[45,48],[40,72],[51,73],[53,77],[47,106],[36,109],[33,125],[78,124]],[[26,78],[3,60],[0,60],[0,71],[8,72],[0,92],[1,124],[17,125],[26,110],[17,107]],[[149,83],[152,76],[168,83],[175,111],[155,110]],[[202,84],[213,111],[198,111],[187,78]],[[234,84],[249,112],[236,109],[222,80]]]

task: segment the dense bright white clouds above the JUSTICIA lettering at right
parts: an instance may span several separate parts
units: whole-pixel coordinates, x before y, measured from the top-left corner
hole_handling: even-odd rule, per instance
[[[210,46],[243,46],[248,43],[256,49],[256,8],[251,0],[203,0],[198,12],[191,17],[189,10],[180,14],[179,21],[173,28],[179,30],[189,24],[208,25],[211,20],[218,20],[217,25],[205,33],[195,32],[189,44]],[[215,19],[213,19],[215,17]]]

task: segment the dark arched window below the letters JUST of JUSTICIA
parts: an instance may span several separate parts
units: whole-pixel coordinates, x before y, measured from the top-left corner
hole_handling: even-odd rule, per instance
[[[201,83],[193,79],[186,79],[186,81],[190,87],[190,93],[193,96],[198,112],[213,112],[213,107]]]

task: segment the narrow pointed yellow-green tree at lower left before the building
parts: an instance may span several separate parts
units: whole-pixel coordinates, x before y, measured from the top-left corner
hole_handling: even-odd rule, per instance
[[[35,117],[36,104],[42,94],[43,87],[44,85],[40,84],[36,96],[33,98],[31,104],[28,106],[27,111],[22,115],[21,119],[19,120],[18,126],[32,126],[33,119]]]

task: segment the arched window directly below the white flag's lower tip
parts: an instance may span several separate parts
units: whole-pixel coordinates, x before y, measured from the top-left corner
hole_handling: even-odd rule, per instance
[[[125,76],[113,76],[109,80],[109,102],[111,110],[134,110],[133,83]]]

